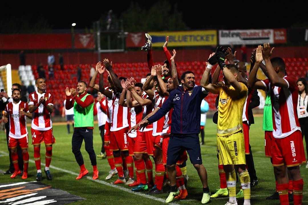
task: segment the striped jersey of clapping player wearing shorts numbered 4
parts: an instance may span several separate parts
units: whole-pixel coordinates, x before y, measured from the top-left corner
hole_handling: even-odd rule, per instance
[[[51,93],[45,92],[40,94],[37,91],[29,94],[28,105],[39,103],[41,97],[45,98],[46,106],[50,104],[54,105],[54,97]],[[40,104],[40,106],[32,112],[31,128],[40,131],[50,130],[52,128],[51,113],[49,113],[43,104]]]

